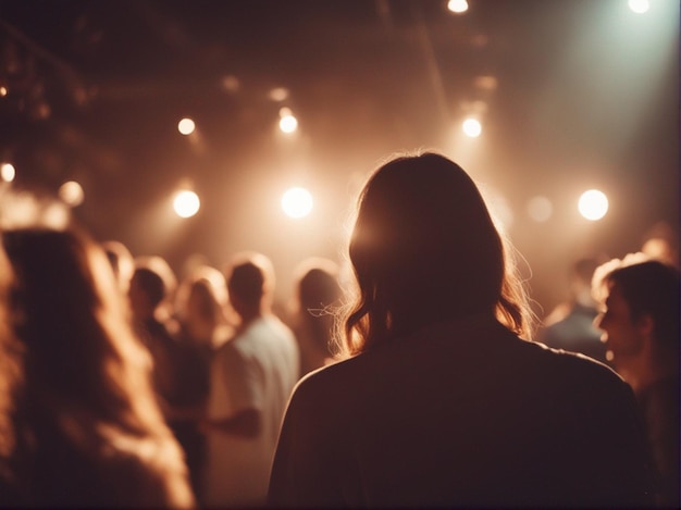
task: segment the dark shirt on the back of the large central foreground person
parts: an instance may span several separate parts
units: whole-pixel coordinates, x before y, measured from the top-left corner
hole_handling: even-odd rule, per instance
[[[465,321],[305,377],[269,502],[649,506],[647,462],[633,393],[609,368]]]

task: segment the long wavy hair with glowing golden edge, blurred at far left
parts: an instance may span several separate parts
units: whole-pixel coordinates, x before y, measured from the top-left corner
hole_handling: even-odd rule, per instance
[[[5,231],[2,245],[15,274],[9,304],[23,347],[16,476],[33,476],[41,416],[40,430],[52,426],[49,437],[87,457],[139,457],[153,478],[166,481],[166,499],[159,500],[193,505],[181,450],[152,393],[149,353],[132,331],[102,248],[75,227]]]

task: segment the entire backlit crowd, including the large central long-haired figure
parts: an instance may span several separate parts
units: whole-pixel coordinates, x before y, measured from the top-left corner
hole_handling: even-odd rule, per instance
[[[536,323],[475,183],[403,153],[351,277],[310,257],[278,313],[264,253],[178,275],[1,209],[2,508],[679,506],[668,246],[575,261]]]

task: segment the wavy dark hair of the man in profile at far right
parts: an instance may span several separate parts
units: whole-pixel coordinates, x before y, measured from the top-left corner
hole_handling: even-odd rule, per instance
[[[654,338],[679,348],[679,314],[681,287],[679,270],[659,260],[646,260],[642,253],[623,260],[615,259],[600,266],[594,275],[596,293],[617,286],[629,304],[632,321],[649,315]]]

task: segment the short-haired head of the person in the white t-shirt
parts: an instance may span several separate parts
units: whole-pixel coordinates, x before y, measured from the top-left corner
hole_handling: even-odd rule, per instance
[[[274,270],[268,257],[257,252],[236,254],[225,271],[230,300],[235,307],[263,309],[271,304]],[[237,309],[237,312],[240,311]]]

